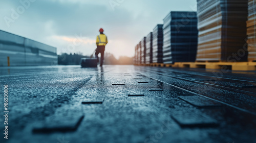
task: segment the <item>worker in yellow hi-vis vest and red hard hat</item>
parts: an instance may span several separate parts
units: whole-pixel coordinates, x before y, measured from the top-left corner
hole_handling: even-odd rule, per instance
[[[102,66],[103,64],[103,60],[104,60],[104,51],[105,51],[105,45],[108,43],[108,38],[106,37],[105,34],[103,34],[104,30],[101,28],[99,30],[100,35],[97,36],[97,40],[96,40],[96,45],[97,45],[97,49],[95,52],[95,57],[97,58],[98,62],[99,62],[99,53],[100,53],[100,66]]]

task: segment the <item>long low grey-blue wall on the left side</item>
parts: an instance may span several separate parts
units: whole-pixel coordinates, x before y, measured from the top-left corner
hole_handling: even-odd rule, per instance
[[[0,30],[0,66],[51,65],[57,63],[56,47]]]

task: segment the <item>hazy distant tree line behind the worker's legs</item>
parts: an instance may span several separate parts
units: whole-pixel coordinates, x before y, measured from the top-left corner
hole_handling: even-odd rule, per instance
[[[100,54],[99,54],[100,55]],[[81,53],[67,54],[63,53],[58,55],[59,65],[79,65],[81,58],[89,58],[90,56],[83,56]],[[133,64],[134,57],[121,56],[116,59],[111,53],[105,53],[104,64]]]

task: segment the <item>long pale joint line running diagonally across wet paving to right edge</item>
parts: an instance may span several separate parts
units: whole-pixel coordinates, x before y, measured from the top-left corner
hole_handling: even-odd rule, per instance
[[[203,96],[203,95],[198,94],[198,93],[196,93],[196,92],[189,91],[189,90],[187,90],[187,89],[184,89],[184,88],[181,88],[181,87],[175,86],[175,85],[173,85],[173,84],[169,84],[169,83],[164,82],[164,81],[160,81],[160,80],[158,80],[158,79],[155,79],[155,78],[152,78],[152,77],[149,77],[149,76],[146,76],[146,75],[144,75],[144,76],[145,76],[145,77],[148,77],[148,78],[151,78],[151,79],[154,79],[154,80],[157,80],[157,81],[159,81],[159,82],[162,82],[162,83],[168,84],[168,85],[170,85],[170,86],[173,86],[173,87],[176,87],[176,88],[179,88],[179,89],[185,90],[185,91],[187,91],[187,92],[190,92],[190,93],[196,94],[196,95],[198,95],[198,96],[201,96],[201,97],[204,97],[204,98],[207,98],[207,99],[210,99],[210,100],[214,100],[214,101],[220,102],[220,103],[222,103],[222,104],[224,104],[224,105],[230,106],[230,107],[235,108],[235,109],[238,109],[238,110],[240,110],[240,111],[243,111],[243,112],[246,112],[246,113],[250,113],[250,114],[256,115],[256,113],[255,113],[255,112],[251,112],[251,111],[248,111],[248,110],[246,110],[246,109],[243,109],[243,108],[240,108],[240,107],[236,107],[236,106],[233,106],[233,105],[231,105],[231,104],[228,104],[228,103],[225,103],[225,102],[222,102],[222,101],[216,100],[216,99],[212,99],[212,98],[209,98],[209,97]]]

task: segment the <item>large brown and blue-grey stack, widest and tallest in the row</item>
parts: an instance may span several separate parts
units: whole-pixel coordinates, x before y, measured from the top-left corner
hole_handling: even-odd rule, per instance
[[[248,0],[198,0],[197,61],[246,61]],[[239,58],[232,54],[240,50]],[[231,58],[231,57],[232,58]],[[239,60],[238,60],[239,59]]]

